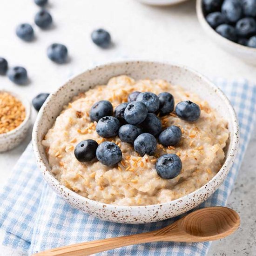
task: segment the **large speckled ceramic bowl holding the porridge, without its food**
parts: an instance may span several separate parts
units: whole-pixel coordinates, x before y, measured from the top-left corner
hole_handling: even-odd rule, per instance
[[[50,172],[44,148],[41,141],[54,120],[60,114],[63,105],[67,104],[74,95],[93,88],[117,75],[127,74],[138,79],[165,79],[183,88],[193,90],[216,108],[229,122],[230,139],[226,149],[225,162],[218,174],[202,188],[177,200],[148,206],[115,206],[92,201],[67,189],[58,182]],[[38,166],[48,182],[66,202],[81,211],[111,222],[147,223],[168,219],[190,209],[205,201],[222,184],[234,161],[238,147],[238,122],[236,114],[227,97],[213,83],[190,70],[187,67],[168,63],[150,61],[117,62],[95,67],[74,77],[51,94],[37,116],[33,130],[34,154]]]

